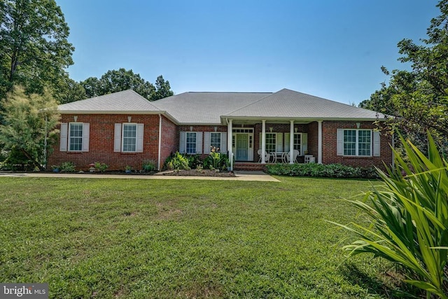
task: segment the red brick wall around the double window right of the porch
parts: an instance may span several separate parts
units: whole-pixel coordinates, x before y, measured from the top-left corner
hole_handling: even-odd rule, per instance
[[[322,123],[322,162],[323,164],[340,163],[354,167],[383,167],[392,163],[391,136],[381,134],[379,157],[344,157],[336,154],[337,129],[356,129],[356,121],[323,121]],[[374,129],[372,122],[361,122],[360,129]],[[309,135],[308,135],[309,136]],[[309,137],[308,137],[309,138]]]

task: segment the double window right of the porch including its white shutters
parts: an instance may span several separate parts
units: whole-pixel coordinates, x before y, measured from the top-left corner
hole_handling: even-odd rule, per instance
[[[339,129],[337,131],[338,155],[371,157],[374,149],[374,155],[379,155],[379,134],[363,129]],[[377,144],[375,148],[374,144]]]

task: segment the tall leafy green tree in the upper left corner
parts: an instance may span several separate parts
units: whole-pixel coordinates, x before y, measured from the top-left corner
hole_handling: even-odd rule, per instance
[[[43,93],[73,64],[69,27],[55,0],[0,1],[0,99],[13,85]]]

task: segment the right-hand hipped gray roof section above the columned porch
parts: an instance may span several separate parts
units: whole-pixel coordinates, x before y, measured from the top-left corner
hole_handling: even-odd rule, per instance
[[[314,97],[302,92],[283,89],[258,99],[232,113],[224,114],[223,118],[285,118],[285,119],[358,119],[375,120],[377,112],[355,106]],[[384,118],[384,115],[379,115]]]

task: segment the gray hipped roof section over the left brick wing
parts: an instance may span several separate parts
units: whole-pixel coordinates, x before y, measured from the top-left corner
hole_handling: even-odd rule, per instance
[[[134,90],[114,92],[62,104],[59,113],[160,113],[160,109]]]

